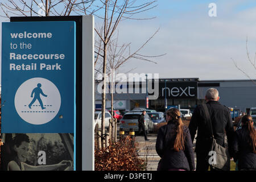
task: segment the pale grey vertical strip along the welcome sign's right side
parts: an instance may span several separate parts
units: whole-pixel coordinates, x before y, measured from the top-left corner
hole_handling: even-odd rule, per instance
[[[82,16],[82,171],[94,171],[93,121],[94,17],[87,15]]]

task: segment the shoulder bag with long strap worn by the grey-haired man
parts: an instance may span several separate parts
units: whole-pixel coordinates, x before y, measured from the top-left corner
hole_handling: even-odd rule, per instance
[[[221,170],[221,171],[229,171],[230,170],[230,155],[228,149],[222,147],[220,144],[216,142],[214,139],[213,130],[212,130],[212,122],[210,121],[210,114],[207,105],[203,104],[205,117],[207,119],[210,135],[212,139],[212,147],[211,151],[209,151],[208,162],[213,169]]]

